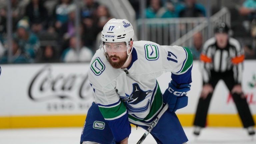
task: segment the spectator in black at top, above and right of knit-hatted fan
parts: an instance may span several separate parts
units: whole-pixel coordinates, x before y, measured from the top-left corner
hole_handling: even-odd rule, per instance
[[[34,33],[42,31],[47,23],[47,9],[44,7],[43,0],[31,0],[26,7],[26,16],[30,21],[30,27]]]

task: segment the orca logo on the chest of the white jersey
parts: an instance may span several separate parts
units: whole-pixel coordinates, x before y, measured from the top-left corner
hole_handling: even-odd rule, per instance
[[[133,90],[131,95],[128,95],[125,93],[126,96],[120,96],[120,98],[122,99],[122,101],[124,101],[126,103],[127,106],[127,110],[131,111],[131,112],[144,112],[148,109],[148,106],[150,104],[150,99],[147,101],[147,103],[145,104],[144,107],[140,107],[140,108],[134,108],[132,105],[138,104],[141,101],[143,101],[144,99],[146,99],[147,97],[150,97],[153,93],[152,90],[148,90],[148,91],[143,91],[139,84],[137,83],[133,83],[132,84]]]

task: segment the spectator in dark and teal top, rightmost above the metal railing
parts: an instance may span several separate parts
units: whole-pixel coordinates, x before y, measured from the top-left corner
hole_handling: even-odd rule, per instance
[[[185,4],[179,4],[176,7],[178,17],[205,17],[206,11],[202,4],[196,3],[196,0],[186,0]]]

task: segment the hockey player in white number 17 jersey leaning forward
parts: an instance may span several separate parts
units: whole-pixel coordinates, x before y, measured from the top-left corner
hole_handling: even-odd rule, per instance
[[[179,46],[160,46],[133,41],[134,31],[126,19],[111,19],[101,32],[100,49],[89,69],[96,102],[88,110],[81,144],[127,144],[130,123],[147,129],[169,104],[151,131],[158,144],[188,141],[174,113],[187,105],[193,57]],[[162,95],[156,78],[172,72]],[[141,123],[142,122],[142,123]]]

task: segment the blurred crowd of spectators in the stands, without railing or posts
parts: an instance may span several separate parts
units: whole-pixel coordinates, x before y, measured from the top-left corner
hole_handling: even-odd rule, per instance
[[[12,45],[7,40],[7,1],[0,0],[0,63],[84,62],[98,49],[100,32],[113,18],[107,6],[95,0],[80,0],[80,39],[76,37],[74,0],[10,0]],[[140,18],[140,1],[129,0]],[[196,0],[147,0],[146,18],[205,17],[206,8]],[[245,0],[239,9],[251,24],[253,44],[244,46],[246,58],[256,58],[256,1]],[[231,26],[232,28],[232,26]],[[80,48],[76,45],[79,43]],[[191,51],[199,59],[202,34],[194,35]]]

